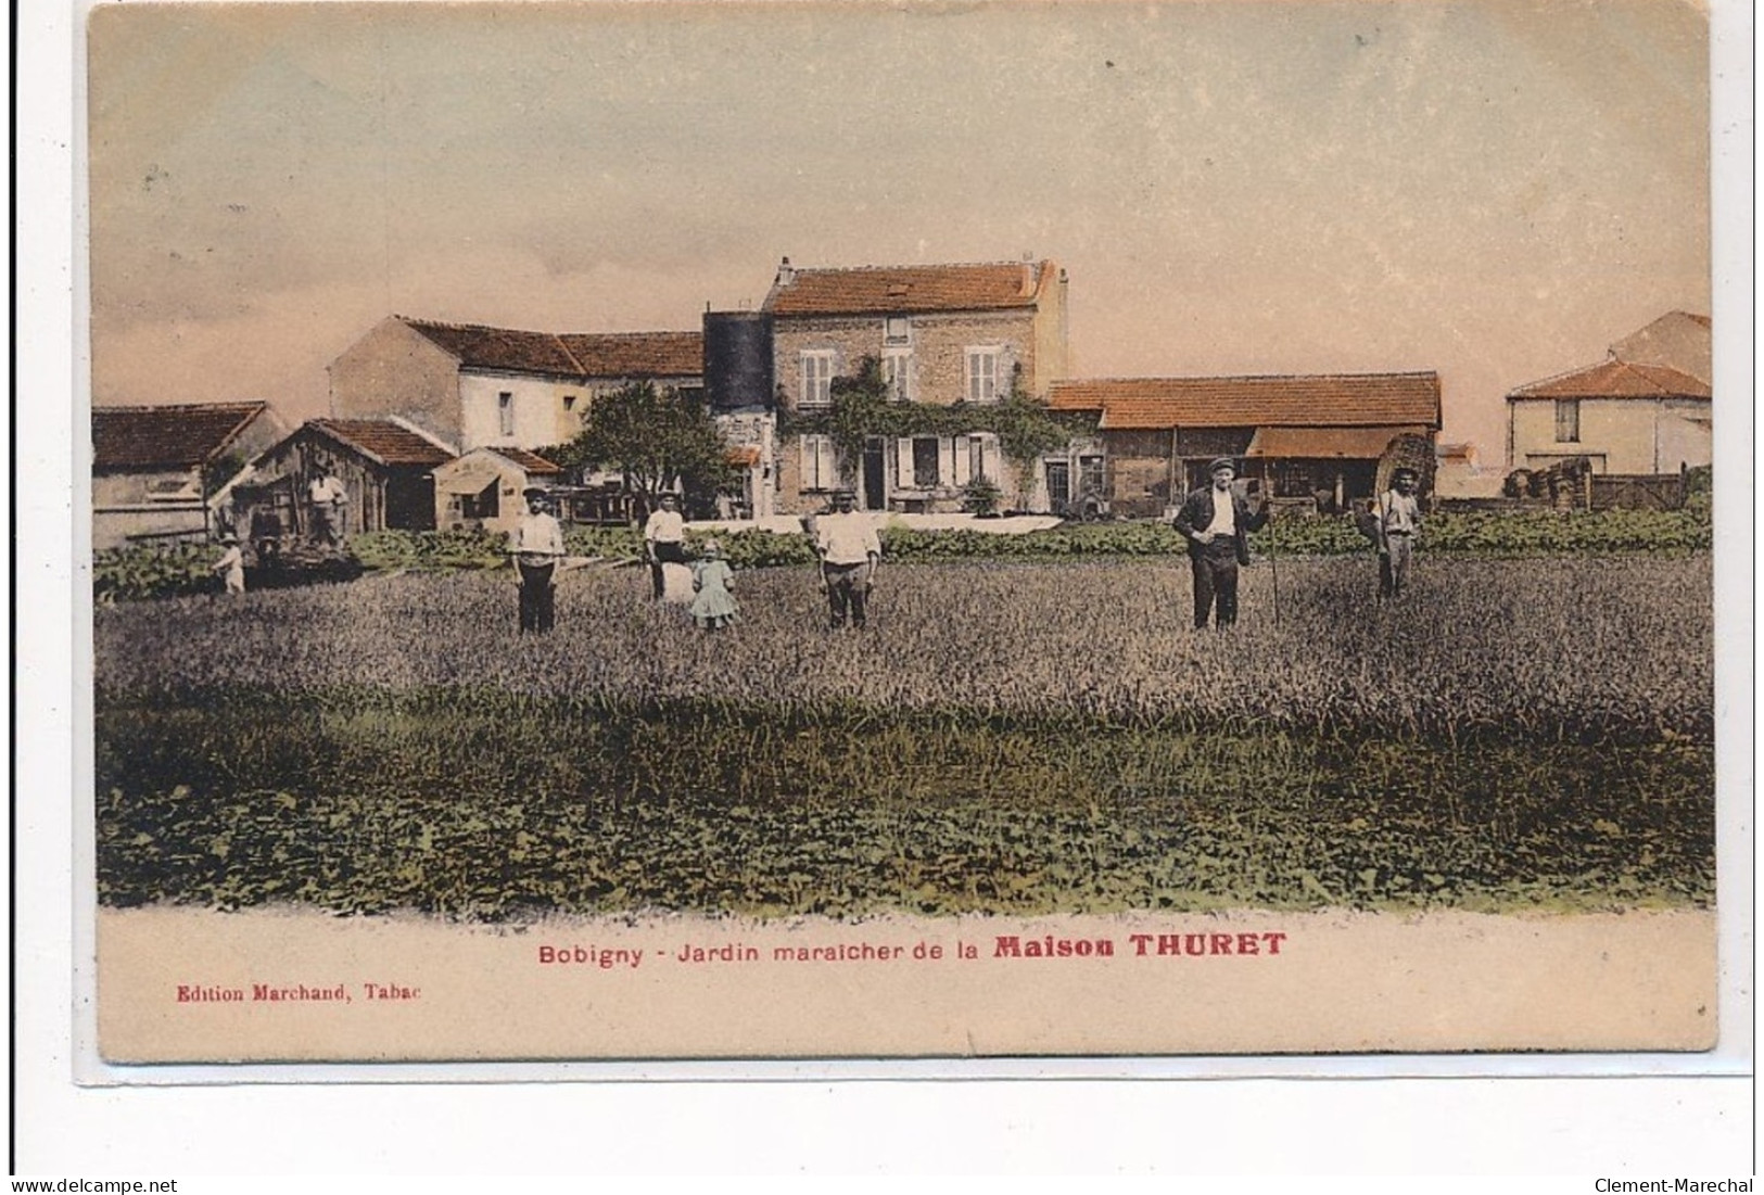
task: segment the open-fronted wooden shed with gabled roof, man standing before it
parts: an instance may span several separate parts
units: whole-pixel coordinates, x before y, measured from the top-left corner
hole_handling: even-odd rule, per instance
[[[453,458],[452,448],[404,419],[307,419],[229,486],[231,522],[250,539],[309,536],[307,486],[333,476],[348,492],[346,534],[432,531],[434,474]]]

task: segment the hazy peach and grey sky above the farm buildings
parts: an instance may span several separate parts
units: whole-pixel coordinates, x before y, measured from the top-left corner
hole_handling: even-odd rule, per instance
[[[1508,390],[1711,303],[1681,0],[129,4],[86,55],[99,404],[1032,254],[1074,375],[1438,370],[1498,469]]]

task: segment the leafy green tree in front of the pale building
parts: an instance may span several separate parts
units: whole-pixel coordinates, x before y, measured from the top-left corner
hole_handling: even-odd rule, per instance
[[[552,460],[564,469],[617,471],[653,509],[665,492],[699,508],[736,481],[729,444],[704,402],[654,382],[630,382],[594,398],[582,430]]]

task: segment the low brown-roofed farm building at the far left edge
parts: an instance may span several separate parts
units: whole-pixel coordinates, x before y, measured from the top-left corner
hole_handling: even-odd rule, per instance
[[[288,434],[266,402],[92,409],[92,546],[205,534],[208,497]]]

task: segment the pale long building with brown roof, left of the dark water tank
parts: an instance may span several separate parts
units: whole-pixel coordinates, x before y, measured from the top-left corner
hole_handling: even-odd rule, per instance
[[[594,395],[633,381],[699,388],[697,331],[550,333],[388,315],[330,363],[339,418],[400,416],[462,449],[545,448]]]

